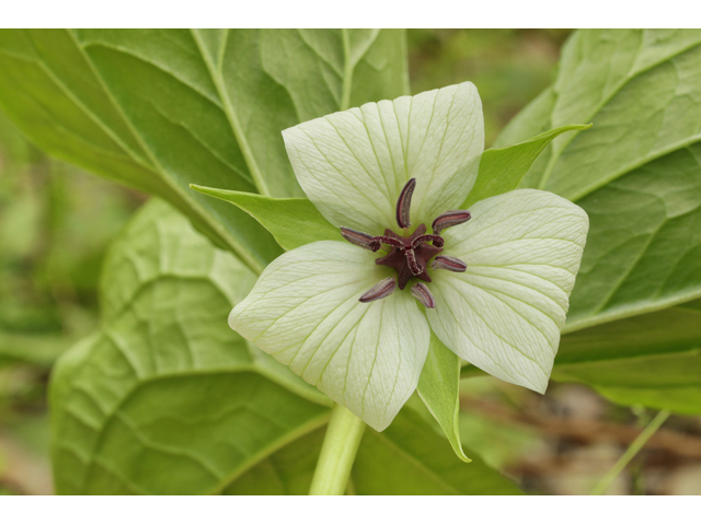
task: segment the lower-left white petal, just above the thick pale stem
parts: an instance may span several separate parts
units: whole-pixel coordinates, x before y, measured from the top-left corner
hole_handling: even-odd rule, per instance
[[[430,330],[409,290],[358,302],[391,275],[376,257],[335,241],[287,252],[229,324],[379,431],[416,388]]]

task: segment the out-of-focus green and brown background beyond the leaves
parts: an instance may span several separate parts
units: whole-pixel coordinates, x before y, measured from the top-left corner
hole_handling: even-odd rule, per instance
[[[570,33],[410,31],[412,93],[474,82],[490,147],[552,82]],[[0,114],[0,494],[53,490],[50,366],[95,328],[105,249],[145,200],[49,160]],[[527,492],[553,494],[588,493],[654,416],[578,385],[539,396],[491,377],[463,382],[461,408],[470,448]],[[701,493],[701,419],[671,417],[609,492]]]

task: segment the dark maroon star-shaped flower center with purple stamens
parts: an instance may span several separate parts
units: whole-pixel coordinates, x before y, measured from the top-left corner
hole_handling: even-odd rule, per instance
[[[416,179],[412,178],[402,189],[397,200],[397,224],[405,230],[411,226],[410,208],[412,195],[416,187]],[[432,259],[432,268],[435,270],[464,271],[468,267],[462,260],[448,255],[438,255],[443,252],[444,240],[440,232],[446,228],[462,224],[470,220],[467,210],[448,211],[440,214],[432,224],[433,233],[426,233],[426,225],[421,224],[411,235],[399,235],[389,228],[384,235],[372,236],[349,228],[341,228],[341,234],[349,243],[377,252],[382,245],[389,247],[389,253],[375,259],[377,265],[387,266],[397,270],[397,278],[389,277],[368,290],[358,301],[367,303],[390,295],[397,288],[404,290],[412,278],[424,282],[430,282],[427,273],[428,262]],[[430,243],[430,244],[429,244]],[[427,308],[436,307],[430,290],[423,282],[412,287],[412,295]]]

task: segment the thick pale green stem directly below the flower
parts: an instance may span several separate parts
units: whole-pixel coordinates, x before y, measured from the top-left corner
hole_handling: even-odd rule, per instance
[[[334,407],[311,480],[310,495],[343,495],[364,430],[360,418],[341,405]]]

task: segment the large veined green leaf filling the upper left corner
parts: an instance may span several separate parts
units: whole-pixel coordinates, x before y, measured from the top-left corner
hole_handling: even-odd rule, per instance
[[[407,92],[393,30],[2,31],[0,69],[41,148],[163,197],[255,271],[273,237],[188,184],[301,196],[283,129]]]

